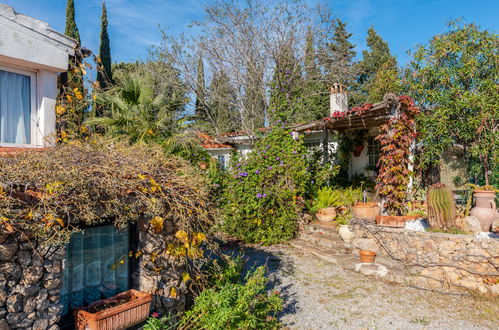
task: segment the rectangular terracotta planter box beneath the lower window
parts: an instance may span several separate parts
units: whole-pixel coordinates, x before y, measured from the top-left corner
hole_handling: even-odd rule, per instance
[[[116,302],[120,299],[130,301],[96,313],[89,309],[103,304]],[[128,290],[111,298],[96,301],[87,307],[79,308],[75,315],[77,330],[127,329],[147,319],[151,308],[152,295],[137,290]]]

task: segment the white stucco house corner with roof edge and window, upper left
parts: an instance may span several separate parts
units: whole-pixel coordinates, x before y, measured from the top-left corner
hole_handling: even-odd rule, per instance
[[[76,41],[0,3],[0,148],[55,141],[57,75]]]

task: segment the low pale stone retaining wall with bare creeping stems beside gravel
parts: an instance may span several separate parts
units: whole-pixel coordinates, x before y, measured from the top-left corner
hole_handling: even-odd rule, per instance
[[[410,276],[406,279],[413,285],[499,295],[499,239],[362,223],[354,224],[352,229],[357,237],[354,245],[368,239],[378,255],[407,270]]]

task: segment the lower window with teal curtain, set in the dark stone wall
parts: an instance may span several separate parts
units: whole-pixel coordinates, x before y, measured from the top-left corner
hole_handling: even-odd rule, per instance
[[[63,315],[128,290],[129,250],[128,230],[100,226],[73,234],[63,272]]]

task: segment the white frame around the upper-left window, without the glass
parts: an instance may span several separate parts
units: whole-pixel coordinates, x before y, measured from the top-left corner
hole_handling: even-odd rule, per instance
[[[6,143],[0,142],[0,147],[8,147],[8,148],[34,148],[38,145],[38,103],[37,103],[37,92],[38,92],[38,83],[37,83],[37,72],[27,70],[26,68],[18,68],[14,66],[7,66],[4,63],[0,62],[0,70],[7,71],[11,73],[17,73],[20,75],[28,76],[29,79],[29,89],[30,89],[30,143]]]

